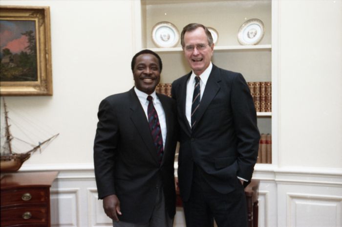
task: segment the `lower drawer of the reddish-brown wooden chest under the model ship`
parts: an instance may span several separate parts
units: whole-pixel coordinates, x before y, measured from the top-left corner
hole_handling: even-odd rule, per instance
[[[1,209],[1,227],[47,224],[49,220],[48,215],[47,207]]]

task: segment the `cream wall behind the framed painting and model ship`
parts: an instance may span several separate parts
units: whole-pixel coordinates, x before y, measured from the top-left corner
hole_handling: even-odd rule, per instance
[[[1,5],[50,6],[54,94],[6,97],[6,102],[11,109],[22,111],[60,135],[24,165],[92,165],[100,101],[133,86],[131,2],[1,0]]]

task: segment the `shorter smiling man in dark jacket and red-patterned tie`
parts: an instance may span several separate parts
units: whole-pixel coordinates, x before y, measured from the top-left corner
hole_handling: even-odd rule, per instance
[[[175,215],[175,101],[155,93],[162,61],[150,51],[131,62],[134,85],[100,103],[94,142],[99,198],[114,227],[172,227]]]

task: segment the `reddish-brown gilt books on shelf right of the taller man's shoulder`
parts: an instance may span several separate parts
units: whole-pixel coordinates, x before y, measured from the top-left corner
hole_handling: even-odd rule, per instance
[[[272,112],[272,82],[247,82],[256,112]]]

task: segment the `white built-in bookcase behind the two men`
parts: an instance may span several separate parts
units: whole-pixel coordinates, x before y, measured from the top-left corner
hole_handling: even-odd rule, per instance
[[[273,31],[275,24],[274,0],[140,0],[136,4],[136,49],[150,49],[157,52],[163,60],[161,83],[173,80],[191,71],[180,45],[159,48],[152,41],[152,29],[161,21],[172,23],[179,34],[188,23],[198,22],[214,28],[218,40],[214,46],[213,63],[221,68],[241,73],[246,81],[272,81],[272,102],[275,102],[274,74],[275,59]],[[260,19],[264,24],[264,36],[256,45],[241,45],[237,34],[240,26],[248,19]],[[141,39],[139,39],[141,35]],[[179,38],[180,39],[180,38]],[[260,133],[274,132],[275,105],[273,113],[257,113]],[[272,145],[272,165],[277,163],[275,145]],[[259,167],[265,166],[258,164]],[[269,165],[265,166],[269,169]]]

